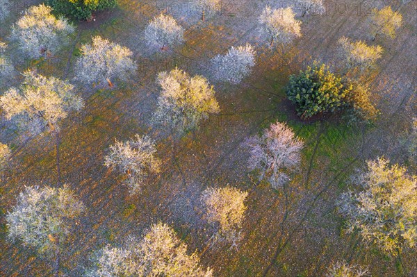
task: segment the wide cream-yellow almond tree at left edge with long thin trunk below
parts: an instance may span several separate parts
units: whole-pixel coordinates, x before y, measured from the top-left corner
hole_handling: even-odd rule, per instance
[[[19,88],[11,87],[0,97],[7,119],[28,131],[29,136],[45,131],[56,137],[56,166],[60,184],[60,122],[72,111],[83,108],[83,100],[74,94],[74,86],[55,77],[25,72]]]

